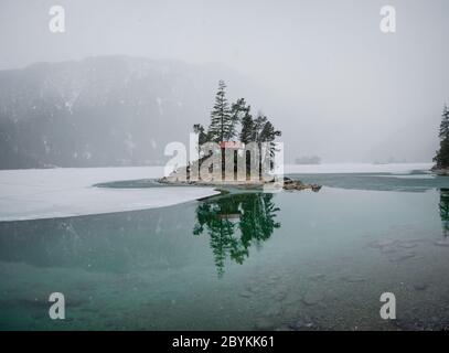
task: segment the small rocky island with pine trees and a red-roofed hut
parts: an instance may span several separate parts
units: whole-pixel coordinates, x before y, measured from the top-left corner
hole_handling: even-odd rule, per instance
[[[252,107],[239,98],[228,104],[226,85],[218,82],[211,122],[193,126],[197,139],[197,156],[186,165],[175,168],[159,180],[164,184],[233,186],[237,189],[260,189],[272,186],[284,190],[319,191],[321,185],[304,184],[299,180],[285,178],[276,169],[284,162],[284,153],[276,138],[281,136],[272,122],[263,114],[254,118]]]

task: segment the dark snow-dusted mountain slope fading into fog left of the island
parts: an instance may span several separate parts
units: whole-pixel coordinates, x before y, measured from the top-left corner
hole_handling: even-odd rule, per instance
[[[0,72],[0,168],[161,164],[207,122],[218,65],[126,56]]]

